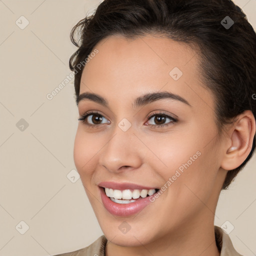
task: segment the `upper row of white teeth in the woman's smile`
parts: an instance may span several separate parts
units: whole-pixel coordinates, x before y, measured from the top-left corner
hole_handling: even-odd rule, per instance
[[[118,189],[112,189],[105,187],[105,193],[108,197],[113,197],[115,199],[124,199],[124,200],[130,200],[131,198],[137,199],[139,196],[145,198],[148,195],[152,195],[155,193],[155,189],[134,189],[131,191],[130,189],[125,190],[118,190]],[[124,202],[127,203],[127,202]]]

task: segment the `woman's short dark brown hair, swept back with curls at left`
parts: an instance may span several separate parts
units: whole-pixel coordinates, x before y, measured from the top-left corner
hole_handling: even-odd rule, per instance
[[[227,17],[228,16],[228,17]],[[233,21],[230,27],[224,23]],[[79,30],[79,38],[74,39]],[[76,70],[95,44],[109,35],[128,38],[158,33],[199,47],[203,81],[215,96],[215,122],[218,134],[223,125],[249,109],[256,115],[256,34],[246,15],[231,0],[104,0],[96,11],[81,19],[70,38],[78,49],[69,59]],[[76,103],[83,68],[74,76]],[[252,148],[243,163],[228,170],[222,189],[227,189],[236,174],[251,158]]]

